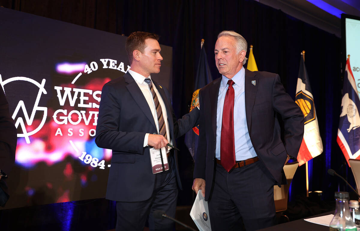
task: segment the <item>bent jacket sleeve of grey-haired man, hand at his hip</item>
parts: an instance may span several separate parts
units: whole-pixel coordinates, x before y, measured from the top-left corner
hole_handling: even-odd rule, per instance
[[[296,158],[304,135],[304,115],[300,107],[285,92],[276,74],[273,83],[273,107],[284,122],[284,145],[287,154]]]

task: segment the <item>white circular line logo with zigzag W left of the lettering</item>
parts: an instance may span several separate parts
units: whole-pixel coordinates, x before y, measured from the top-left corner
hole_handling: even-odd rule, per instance
[[[39,101],[41,98],[42,94],[47,94],[44,86],[45,86],[45,79],[43,79],[41,81],[41,84],[36,82],[35,80],[32,80],[31,78],[27,78],[27,77],[13,77],[13,78],[8,78],[7,80],[4,80],[1,78],[1,74],[0,74],[0,85],[4,90],[4,86],[8,83],[11,82],[15,82],[15,81],[26,81],[26,82],[30,82],[33,85],[35,85],[36,87],[39,88],[39,91],[37,92],[37,96],[36,96],[36,100],[35,100],[35,104],[31,110],[31,114],[29,116],[24,101],[23,100],[19,100],[14,113],[12,115],[13,120],[15,121],[15,127],[18,128],[20,126],[22,133],[18,133],[18,137],[24,137],[26,140],[27,144],[30,144],[30,139],[29,136],[34,135],[36,132],[40,131],[40,129],[42,128],[42,126],[44,126],[45,121],[46,121],[46,116],[48,115],[48,108],[46,107],[39,107]],[[4,90],[5,92],[5,90]],[[6,92],[5,92],[6,94]],[[22,110],[22,113],[24,114],[24,118],[22,117],[18,117],[18,113],[19,110]],[[34,121],[34,117],[35,114],[37,113],[37,111],[40,111],[40,113],[42,113],[42,119],[41,119],[41,123],[39,124],[39,126],[37,128],[35,128],[32,131],[27,131],[26,127],[25,127],[25,123],[28,126],[32,125],[32,122]]]

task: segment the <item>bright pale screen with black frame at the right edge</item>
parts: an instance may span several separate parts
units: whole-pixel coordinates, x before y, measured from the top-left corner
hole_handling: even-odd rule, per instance
[[[341,20],[343,41],[342,67],[345,69],[347,55],[350,55],[351,71],[355,78],[357,91],[360,92],[360,17],[342,14]]]

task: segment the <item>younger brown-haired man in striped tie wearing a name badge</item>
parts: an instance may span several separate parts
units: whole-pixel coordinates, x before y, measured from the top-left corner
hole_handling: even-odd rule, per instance
[[[163,210],[174,217],[177,184],[181,188],[177,152],[167,144],[176,146],[175,139],[198,124],[198,109],[176,121],[167,89],[150,77],[163,59],[157,40],[153,33],[131,33],[129,72],[102,90],[95,142],[113,150],[106,198],[117,201],[116,230],[143,230],[147,218],[150,230],[173,229],[172,221],[153,216]],[[151,158],[157,149],[164,155]],[[153,167],[150,159],[161,160],[161,167]]]

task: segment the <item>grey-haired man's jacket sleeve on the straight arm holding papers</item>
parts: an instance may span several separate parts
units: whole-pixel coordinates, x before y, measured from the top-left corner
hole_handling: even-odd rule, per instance
[[[206,166],[206,128],[205,128],[205,113],[202,97],[202,90],[199,92],[199,104],[200,104],[200,117],[199,117],[199,139],[198,149],[195,157],[195,168],[193,178],[202,178],[205,180],[205,166]]]

